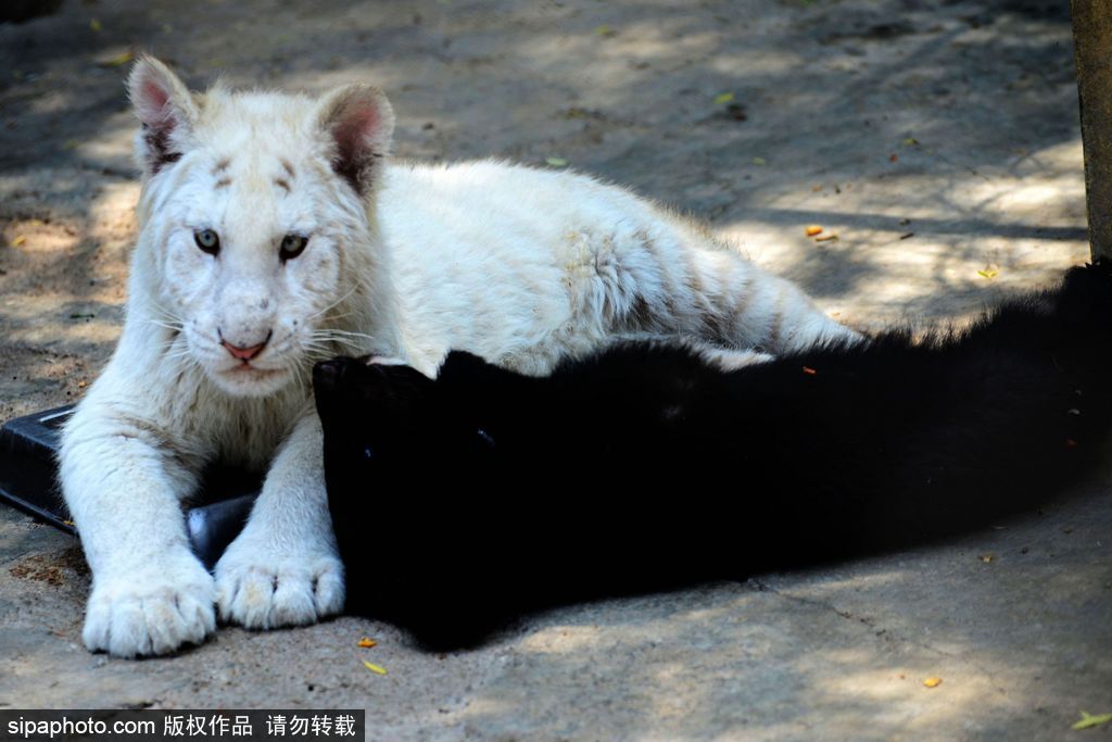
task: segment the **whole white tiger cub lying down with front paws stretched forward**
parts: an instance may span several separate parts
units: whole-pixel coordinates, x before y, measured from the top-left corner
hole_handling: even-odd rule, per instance
[[[319,358],[374,352],[435,374],[460,348],[539,374],[620,335],[768,353],[856,337],[620,188],[389,162],[394,115],[375,88],[191,93],[151,58],[129,88],[143,188],[127,316],[60,454],[93,574],[90,650],[172,652],[211,633],[217,607],[256,629],[341,610],[308,382]],[[181,503],[217,456],[266,479],[214,576]]]

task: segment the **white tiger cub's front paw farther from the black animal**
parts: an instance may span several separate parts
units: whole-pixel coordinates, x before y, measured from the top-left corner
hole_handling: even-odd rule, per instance
[[[85,645],[120,657],[167,654],[216,631],[212,576],[189,552],[156,564],[96,575]]]

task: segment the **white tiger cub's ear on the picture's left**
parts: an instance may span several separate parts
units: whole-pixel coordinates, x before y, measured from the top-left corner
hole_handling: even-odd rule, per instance
[[[170,68],[143,55],[128,77],[131,108],[142,122],[136,138],[136,160],[150,178],[180,159],[199,111],[186,85]]]

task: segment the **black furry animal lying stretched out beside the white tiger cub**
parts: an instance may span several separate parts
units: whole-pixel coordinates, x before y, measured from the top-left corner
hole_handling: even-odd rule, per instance
[[[523,611],[906,547],[996,523],[1099,461],[1112,267],[970,329],[722,373],[625,345],[529,378],[315,372],[353,612],[438,647]]]

